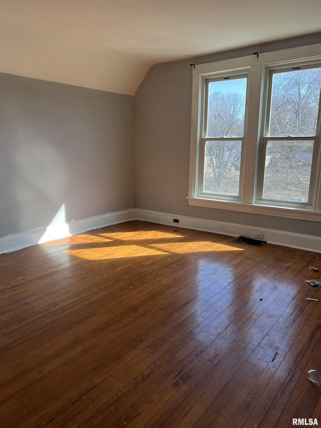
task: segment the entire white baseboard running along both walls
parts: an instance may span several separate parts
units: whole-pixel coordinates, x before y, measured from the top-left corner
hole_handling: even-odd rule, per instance
[[[174,218],[179,219],[180,223],[173,223]],[[4,238],[0,238],[0,254],[131,220],[149,221],[151,223],[203,230],[230,236],[242,235],[249,238],[254,238],[254,233],[259,232],[264,234],[264,241],[271,244],[321,253],[321,238],[318,236],[131,208],[5,236]]]

